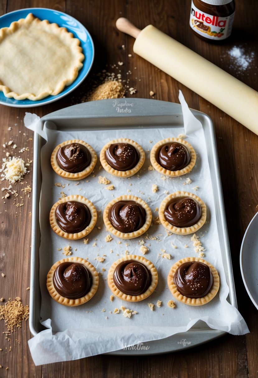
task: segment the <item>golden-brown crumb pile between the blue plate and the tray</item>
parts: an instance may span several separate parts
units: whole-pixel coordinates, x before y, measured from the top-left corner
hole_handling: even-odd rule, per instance
[[[123,98],[124,94],[125,88],[121,82],[109,80],[98,85],[89,96],[88,101]]]

